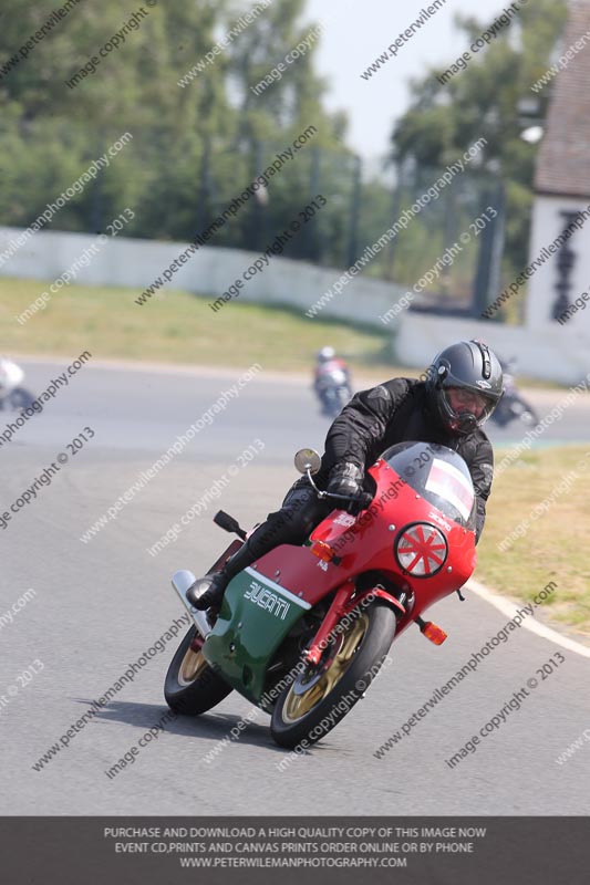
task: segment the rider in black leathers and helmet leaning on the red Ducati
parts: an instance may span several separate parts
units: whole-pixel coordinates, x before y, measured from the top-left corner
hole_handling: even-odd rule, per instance
[[[447,446],[465,460],[476,493],[476,543],[486,516],[491,488],[494,454],[482,425],[504,393],[498,358],[482,341],[460,341],[445,347],[424,381],[392,378],[355,394],[331,425],[325,451],[314,481],[320,490],[337,494],[369,491],[365,471],[390,446],[421,440]],[[366,483],[369,485],[369,483]],[[351,501],[349,513],[366,503]],[[280,510],[269,513],[213,575],[198,579],[187,591],[195,608],[217,611],[229,581],[279,544],[302,544],[334,509],[320,500],[307,477],[289,489]]]

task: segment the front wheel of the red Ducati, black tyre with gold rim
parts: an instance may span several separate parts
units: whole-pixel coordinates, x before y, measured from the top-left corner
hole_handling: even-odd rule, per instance
[[[281,747],[297,747],[302,741],[310,745],[331,731],[376,676],[395,626],[395,613],[381,601],[349,623],[320,664],[303,669],[279,697],[270,723],[276,742]]]

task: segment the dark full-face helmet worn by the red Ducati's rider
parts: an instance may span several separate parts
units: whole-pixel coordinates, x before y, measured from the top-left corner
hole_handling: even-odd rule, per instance
[[[477,394],[484,406],[482,415],[453,409],[449,388]],[[472,434],[489,418],[504,394],[499,360],[483,341],[459,341],[435,357],[428,368],[426,391],[431,408],[447,430]]]

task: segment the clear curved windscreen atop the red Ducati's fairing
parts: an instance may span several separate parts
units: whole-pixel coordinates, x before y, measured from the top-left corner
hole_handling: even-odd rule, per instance
[[[475,491],[460,455],[434,442],[398,442],[381,457],[445,517],[475,531]]]

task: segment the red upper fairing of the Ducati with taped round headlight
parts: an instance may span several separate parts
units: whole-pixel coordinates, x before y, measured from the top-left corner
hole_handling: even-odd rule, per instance
[[[473,487],[453,465],[435,452],[418,469],[431,499],[444,494],[458,512],[468,514]],[[475,532],[466,528],[466,518],[456,521],[426,500],[386,460],[377,460],[369,472],[376,492],[368,510],[356,518],[343,510],[332,511],[313,531],[311,546],[283,544],[255,568],[312,606],[346,582],[352,589],[361,573],[379,571],[395,587],[415,596],[414,605],[401,617],[398,634],[470,577],[476,564]],[[315,545],[318,555],[314,542],[323,542]],[[319,559],[330,554],[331,561]]]

